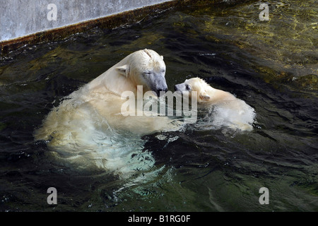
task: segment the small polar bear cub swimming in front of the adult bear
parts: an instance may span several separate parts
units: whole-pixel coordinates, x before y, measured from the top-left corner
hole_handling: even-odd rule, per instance
[[[175,85],[175,91],[182,95],[192,97],[192,91],[196,91],[198,107],[209,109],[211,123],[214,127],[223,126],[241,131],[252,131],[252,124],[255,119],[255,112],[252,107],[243,100],[238,99],[231,93],[212,88],[201,78],[190,78]]]

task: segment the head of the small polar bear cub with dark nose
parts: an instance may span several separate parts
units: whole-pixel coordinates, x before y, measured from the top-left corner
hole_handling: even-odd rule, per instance
[[[208,102],[211,99],[207,92],[208,88],[211,88],[211,86],[201,78],[190,78],[184,83],[175,85],[175,91],[179,91],[183,95],[189,95],[189,97],[192,97],[192,91],[195,91],[198,102]]]

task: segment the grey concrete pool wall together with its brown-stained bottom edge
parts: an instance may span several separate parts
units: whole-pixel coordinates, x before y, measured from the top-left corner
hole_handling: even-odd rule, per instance
[[[2,0],[0,55],[25,44],[60,40],[98,26],[116,28],[174,6],[235,4],[243,0]],[[52,16],[54,4],[56,20]]]

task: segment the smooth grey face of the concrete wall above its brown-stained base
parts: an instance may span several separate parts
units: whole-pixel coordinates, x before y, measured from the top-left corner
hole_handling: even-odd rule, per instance
[[[0,42],[165,1],[170,0],[0,0]],[[57,6],[57,20],[47,19],[54,15],[49,4]]]

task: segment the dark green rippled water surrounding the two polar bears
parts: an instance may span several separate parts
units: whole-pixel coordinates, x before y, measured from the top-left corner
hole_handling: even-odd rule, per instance
[[[0,63],[1,211],[317,211],[317,4],[172,8],[114,30],[27,45]],[[193,76],[257,112],[252,132],[143,137],[155,177],[79,174],[49,158],[37,129],[62,97],[139,49],[164,56],[167,84]],[[160,169],[160,170],[158,170]],[[57,188],[57,205],[47,189]],[[269,204],[259,189],[269,189]]]

